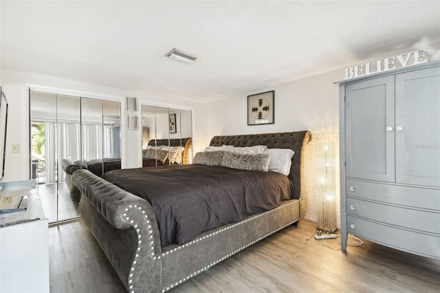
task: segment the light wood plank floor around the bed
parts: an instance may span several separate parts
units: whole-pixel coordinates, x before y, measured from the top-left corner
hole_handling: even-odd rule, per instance
[[[302,220],[170,292],[440,292],[439,260],[369,241],[344,253],[338,239],[309,239],[315,227]],[[50,292],[126,292],[82,220],[49,237]]]

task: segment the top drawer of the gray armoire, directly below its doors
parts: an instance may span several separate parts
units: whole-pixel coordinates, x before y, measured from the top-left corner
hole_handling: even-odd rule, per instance
[[[346,180],[347,195],[402,206],[440,210],[440,189]]]

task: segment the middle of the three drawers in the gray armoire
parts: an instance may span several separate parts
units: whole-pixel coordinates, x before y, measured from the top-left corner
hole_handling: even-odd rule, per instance
[[[386,204],[376,204],[351,197],[347,197],[346,204],[347,214],[380,221],[386,224],[437,233],[440,236],[440,212],[434,213],[388,206]]]

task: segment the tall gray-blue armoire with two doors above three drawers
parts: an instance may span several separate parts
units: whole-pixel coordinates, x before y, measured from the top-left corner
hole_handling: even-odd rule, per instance
[[[440,63],[340,83],[347,233],[440,259]]]

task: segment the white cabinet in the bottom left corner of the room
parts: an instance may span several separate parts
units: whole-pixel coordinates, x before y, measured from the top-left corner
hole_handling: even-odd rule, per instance
[[[39,219],[0,228],[0,292],[49,292],[48,223],[38,193],[6,185],[0,195],[27,195],[28,210],[0,214],[0,224]]]

